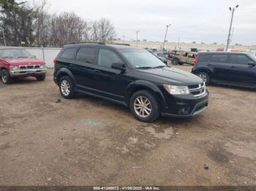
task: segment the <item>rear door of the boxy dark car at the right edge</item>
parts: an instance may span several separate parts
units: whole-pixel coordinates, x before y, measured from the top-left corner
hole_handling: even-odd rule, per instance
[[[228,81],[229,80],[229,65],[227,63],[227,55],[225,54],[211,54],[210,60],[207,63],[208,67],[212,69],[211,79],[214,81]]]

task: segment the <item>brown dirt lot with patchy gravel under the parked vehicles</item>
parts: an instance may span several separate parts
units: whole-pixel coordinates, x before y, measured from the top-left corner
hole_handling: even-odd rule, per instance
[[[210,86],[203,114],[146,124],[52,76],[0,82],[0,185],[256,185],[256,90]]]

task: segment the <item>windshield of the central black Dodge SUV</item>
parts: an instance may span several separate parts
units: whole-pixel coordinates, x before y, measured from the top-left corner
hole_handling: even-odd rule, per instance
[[[118,50],[118,52],[124,55],[135,69],[165,66],[159,58],[143,49],[122,49]]]

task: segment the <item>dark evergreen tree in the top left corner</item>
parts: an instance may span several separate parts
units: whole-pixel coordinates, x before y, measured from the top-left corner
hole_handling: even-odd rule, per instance
[[[0,0],[1,28],[4,29],[8,45],[19,46],[34,43],[33,20],[34,10],[26,1]]]

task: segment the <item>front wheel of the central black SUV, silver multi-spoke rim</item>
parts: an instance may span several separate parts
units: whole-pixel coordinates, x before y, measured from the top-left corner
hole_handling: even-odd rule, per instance
[[[154,95],[148,90],[140,90],[129,101],[132,114],[142,122],[153,122],[159,117],[159,105]]]

